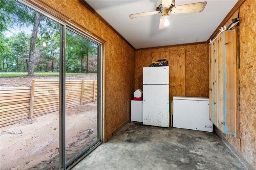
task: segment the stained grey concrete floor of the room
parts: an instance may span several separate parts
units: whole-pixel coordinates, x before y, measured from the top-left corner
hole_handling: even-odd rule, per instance
[[[74,170],[242,170],[216,134],[130,122]]]

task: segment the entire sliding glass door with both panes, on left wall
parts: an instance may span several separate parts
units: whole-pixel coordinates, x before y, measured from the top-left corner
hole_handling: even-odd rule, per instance
[[[65,169],[101,143],[101,44],[34,9],[1,1],[1,169]]]

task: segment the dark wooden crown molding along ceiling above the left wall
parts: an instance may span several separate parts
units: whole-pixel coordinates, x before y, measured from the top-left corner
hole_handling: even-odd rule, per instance
[[[97,16],[104,24],[106,24],[106,26],[108,26],[112,31],[114,31],[114,33],[116,33],[120,38],[122,38],[122,40],[124,40],[124,42],[126,42],[128,45],[130,45],[130,47],[132,47],[132,49],[135,50],[135,48],[132,46],[132,44],[130,44],[119,32],[117,32],[106,20],[104,20],[104,18],[102,18],[102,16],[100,16],[100,14],[98,14],[96,12],[96,10],[94,10],[92,8],[92,6],[90,6],[85,0],[79,0],[79,2],[81,2],[88,10],[90,10],[90,12],[92,12],[92,14],[94,14],[95,16]]]

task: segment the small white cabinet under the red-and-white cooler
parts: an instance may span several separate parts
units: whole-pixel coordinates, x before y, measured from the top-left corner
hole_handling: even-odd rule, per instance
[[[143,122],[143,101],[131,101],[131,121]]]

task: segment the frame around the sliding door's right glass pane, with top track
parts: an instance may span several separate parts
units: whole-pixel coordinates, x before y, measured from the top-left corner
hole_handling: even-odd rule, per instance
[[[60,76],[59,76],[59,90],[60,90],[60,105],[59,105],[59,128],[60,128],[60,135],[59,135],[59,146],[60,146],[60,164],[59,169],[60,170],[69,170],[72,167],[74,167],[80,160],[82,160],[84,157],[86,157],[90,152],[92,152],[97,146],[99,146],[103,141],[103,112],[104,112],[104,102],[103,95],[104,95],[104,60],[103,60],[103,51],[105,49],[104,41],[100,42],[98,38],[90,35],[88,32],[83,30],[82,28],[78,27],[73,24],[69,24],[68,22],[61,21],[58,17],[53,17],[51,14],[52,12],[49,12],[47,8],[42,8],[40,4],[33,1],[27,1],[27,0],[15,0],[18,3],[23,4],[24,6],[27,6],[31,8],[32,10],[50,18],[51,20],[57,22],[60,24]],[[76,156],[74,156],[71,160],[66,162],[66,124],[65,124],[65,82],[66,82],[66,29],[75,32],[76,34],[79,34],[80,36],[86,38],[87,40],[90,40],[98,45],[98,58],[97,58],[97,71],[98,71],[98,85],[97,85],[97,124],[98,124],[98,135],[99,139],[94,141],[92,144],[84,148],[81,152],[79,152]],[[81,32],[80,30],[83,30],[84,32]],[[87,35],[88,34],[88,35]],[[91,37],[91,38],[90,38]],[[95,38],[95,40],[93,39]],[[97,41],[97,39],[99,41]],[[104,47],[104,49],[103,49]]]

